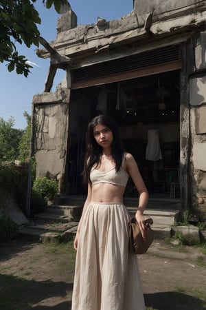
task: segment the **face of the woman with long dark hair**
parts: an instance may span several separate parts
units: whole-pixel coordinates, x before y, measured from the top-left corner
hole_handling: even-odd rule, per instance
[[[111,147],[113,143],[113,132],[105,125],[96,125],[93,127],[95,141],[103,148]]]

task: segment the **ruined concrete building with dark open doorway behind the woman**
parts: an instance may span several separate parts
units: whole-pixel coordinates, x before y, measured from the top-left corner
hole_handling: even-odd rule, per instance
[[[84,194],[85,131],[104,113],[115,118],[150,196],[180,198],[183,209],[204,215],[206,1],[133,4],[121,19],[77,25],[68,3],[56,39],[41,39],[37,54],[51,64],[32,102],[36,176],[58,177],[62,194]],[[50,92],[56,70],[65,79]],[[133,194],[129,182],[126,195]]]

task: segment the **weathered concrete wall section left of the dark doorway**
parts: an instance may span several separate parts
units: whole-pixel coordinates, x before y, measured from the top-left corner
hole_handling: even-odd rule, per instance
[[[69,90],[34,96],[36,177],[65,172],[68,138]]]

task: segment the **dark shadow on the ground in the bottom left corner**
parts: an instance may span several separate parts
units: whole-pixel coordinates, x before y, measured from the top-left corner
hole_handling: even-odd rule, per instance
[[[52,282],[50,280],[36,282],[35,280],[25,280],[16,276],[1,274],[0,309],[69,310],[71,301],[69,301],[68,295],[72,289],[73,283]],[[52,298],[53,304],[51,304],[51,307],[39,304],[49,300],[49,298]],[[66,301],[62,300],[63,298]]]

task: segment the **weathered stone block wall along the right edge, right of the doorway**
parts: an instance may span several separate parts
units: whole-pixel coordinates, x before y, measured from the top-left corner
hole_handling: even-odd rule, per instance
[[[206,32],[196,39],[196,72],[206,68]],[[190,79],[190,130],[192,137],[192,189],[194,203],[206,218],[206,74],[192,76]]]

